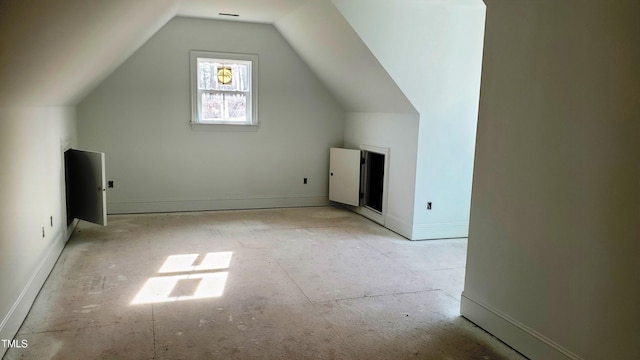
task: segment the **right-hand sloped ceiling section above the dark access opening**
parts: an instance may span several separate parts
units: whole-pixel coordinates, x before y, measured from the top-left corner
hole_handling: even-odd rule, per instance
[[[331,1],[311,0],[274,25],[345,110],[416,112]]]

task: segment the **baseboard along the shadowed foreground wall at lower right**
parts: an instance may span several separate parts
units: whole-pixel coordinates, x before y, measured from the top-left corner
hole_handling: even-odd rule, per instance
[[[460,313],[530,359],[582,360],[544,335],[465,292],[462,293]]]

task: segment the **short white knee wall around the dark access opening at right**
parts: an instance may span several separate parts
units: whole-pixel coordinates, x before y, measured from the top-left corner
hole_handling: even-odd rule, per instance
[[[389,148],[389,177],[385,226],[411,237],[413,189],[415,188],[417,114],[346,114],[344,145],[360,149],[361,145]]]

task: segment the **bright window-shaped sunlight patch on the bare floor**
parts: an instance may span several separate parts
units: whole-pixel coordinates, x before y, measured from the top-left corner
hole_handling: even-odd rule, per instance
[[[217,270],[228,269],[232,255],[233,252],[230,251],[208,253],[200,265],[194,265],[199,254],[171,255],[158,273],[179,275],[149,278],[131,301],[131,305],[222,296],[229,273]]]

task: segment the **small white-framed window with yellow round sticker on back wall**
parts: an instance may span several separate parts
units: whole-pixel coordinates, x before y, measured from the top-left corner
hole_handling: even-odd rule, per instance
[[[257,125],[258,56],[191,52],[191,125]]]

